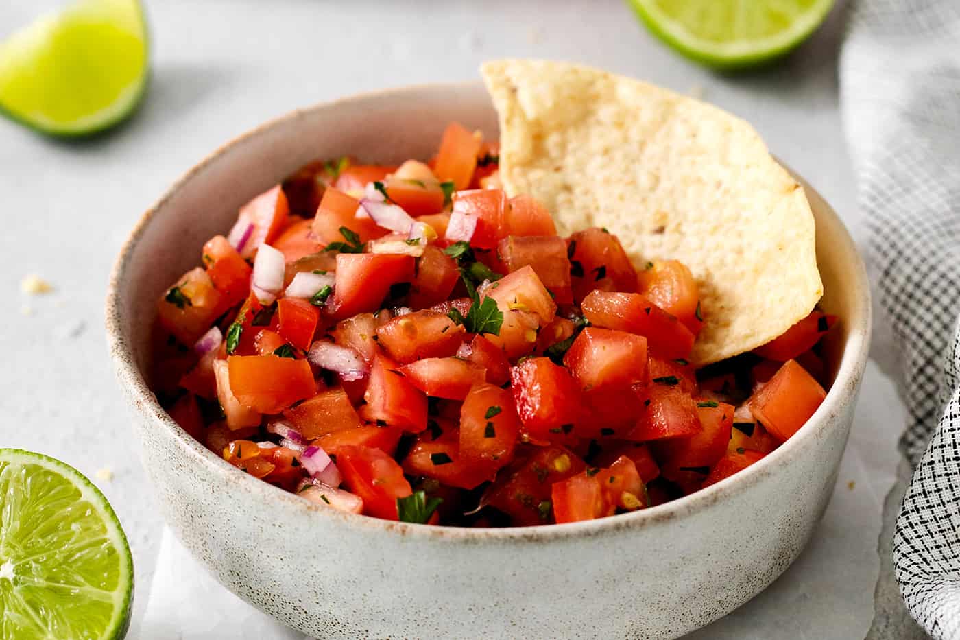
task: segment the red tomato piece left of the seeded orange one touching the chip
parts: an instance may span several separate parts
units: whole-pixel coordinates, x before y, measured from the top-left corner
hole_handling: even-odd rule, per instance
[[[636,291],[636,269],[615,235],[596,228],[572,234],[567,255],[576,300],[583,300],[594,289]]]

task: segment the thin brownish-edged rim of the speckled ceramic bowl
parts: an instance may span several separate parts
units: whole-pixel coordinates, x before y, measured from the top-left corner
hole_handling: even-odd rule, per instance
[[[177,446],[182,447],[183,453],[197,458],[192,463],[206,466],[211,473],[220,477],[219,480],[232,480],[232,483],[243,487],[241,490],[249,493],[249,497],[252,499],[284,503],[290,505],[289,508],[301,513],[315,511],[320,514],[319,517],[340,520],[349,527],[358,527],[372,531],[385,531],[389,534],[399,533],[400,535],[416,536],[433,540],[468,541],[474,543],[480,541],[538,543],[546,540],[585,538],[611,533],[621,529],[653,527],[673,520],[687,518],[708,509],[708,507],[712,505],[725,502],[733,495],[745,492],[763,478],[771,475],[775,470],[789,465],[798,455],[798,452],[807,445],[808,441],[818,439],[824,431],[835,427],[835,422],[831,420],[831,418],[841,413],[848,403],[855,400],[855,391],[858,382],[862,379],[870,347],[873,319],[871,293],[867,280],[866,267],[842,218],[829,206],[826,199],[804,181],[802,176],[790,169],[786,164],[780,162],[780,164],[804,186],[806,193],[808,195],[812,194],[813,197],[819,201],[823,212],[826,213],[828,217],[834,218],[834,221],[838,224],[839,230],[842,232],[839,234],[839,243],[845,247],[845,250],[852,253],[856,265],[855,273],[850,274],[850,277],[853,289],[856,291],[856,293],[853,294],[855,296],[854,308],[859,311],[860,317],[846,319],[847,321],[854,320],[856,322],[852,323],[850,327],[849,335],[843,346],[836,377],[828,390],[827,397],[823,404],[819,406],[814,414],[806,421],[800,431],[781,444],[775,451],[765,455],[755,464],[727,479],[663,505],[584,522],[505,528],[420,525],[345,513],[324,507],[323,505],[315,505],[298,498],[293,493],[241,473],[222,457],[213,455],[203,444],[186,433],[186,431],[183,431],[159,405],[156,396],[134,363],[131,345],[124,335],[123,324],[125,318],[121,311],[122,305],[120,302],[120,290],[122,283],[126,280],[132,256],[143,235],[155,219],[161,215],[161,211],[165,209],[167,203],[176,196],[183,185],[186,185],[201,175],[204,169],[210,164],[222,160],[228,152],[242,146],[248,140],[262,135],[268,130],[295,123],[306,113],[324,111],[333,107],[353,103],[404,99],[409,98],[410,94],[416,94],[419,91],[476,91],[481,86],[482,84],[479,81],[396,86],[354,93],[345,97],[322,101],[308,107],[288,111],[263,122],[243,134],[233,137],[180,175],[137,220],[130,235],[124,242],[119,255],[114,261],[108,282],[106,301],[108,351],[110,359],[113,361],[118,382],[121,387],[124,388],[133,410],[140,414],[139,417],[155,421],[159,423],[157,425],[158,427],[170,430],[171,432],[168,433],[168,435],[173,436]],[[776,159],[776,157],[774,158],[780,161]],[[227,474],[230,474],[230,476],[227,476]]]

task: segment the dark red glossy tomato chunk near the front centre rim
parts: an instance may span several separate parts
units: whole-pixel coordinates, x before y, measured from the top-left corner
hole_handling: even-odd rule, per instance
[[[549,524],[552,484],[576,476],[586,466],[580,457],[563,447],[535,447],[531,455],[497,475],[481,504],[503,511],[519,527]]]

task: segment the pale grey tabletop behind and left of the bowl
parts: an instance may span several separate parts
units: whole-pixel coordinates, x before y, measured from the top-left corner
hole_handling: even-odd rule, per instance
[[[50,0],[0,3],[0,37]],[[141,211],[183,171],[262,120],[383,86],[476,78],[516,56],[587,62],[750,120],[858,234],[837,109],[842,11],[791,58],[714,75],[650,37],[618,0],[148,0],[152,84],[110,135],[57,142],[0,119],[0,446],[55,455],[98,483],[130,538],[142,614],[161,523],[104,339],[108,273]],[[36,273],[56,290],[20,292]],[[879,517],[879,513],[877,514]]]

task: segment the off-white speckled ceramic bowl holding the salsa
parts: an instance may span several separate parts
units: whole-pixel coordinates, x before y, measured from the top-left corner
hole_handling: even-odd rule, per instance
[[[667,638],[750,600],[800,554],[833,489],[870,334],[863,263],[817,219],[833,385],[804,428],[745,472],[682,500],[539,528],[426,527],[345,514],[255,480],[156,403],[148,333],[161,291],[237,208],[301,164],[425,158],[459,120],[496,135],[483,87],[421,86],[295,111],[191,169],[143,216],[109,286],[109,349],[170,527],[231,591],[317,637]],[[745,552],[744,550],[749,550]]]

